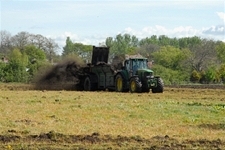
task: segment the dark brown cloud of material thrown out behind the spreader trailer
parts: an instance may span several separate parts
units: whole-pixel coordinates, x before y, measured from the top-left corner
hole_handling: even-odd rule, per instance
[[[35,79],[36,90],[76,90],[81,68],[77,60],[69,59],[41,69]]]

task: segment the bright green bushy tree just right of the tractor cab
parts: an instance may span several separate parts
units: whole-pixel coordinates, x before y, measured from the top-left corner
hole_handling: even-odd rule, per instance
[[[152,53],[154,59],[154,71],[165,80],[166,84],[179,84],[189,80],[189,69],[186,60],[190,55],[188,49],[163,46]],[[157,67],[155,67],[157,66]],[[190,68],[190,67],[189,67]]]

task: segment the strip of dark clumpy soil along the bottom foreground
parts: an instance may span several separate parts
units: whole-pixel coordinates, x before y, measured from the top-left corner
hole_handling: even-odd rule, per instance
[[[145,139],[140,136],[100,135],[64,135],[50,131],[39,135],[16,135],[16,131],[8,131],[8,135],[0,135],[0,148],[8,149],[224,149],[225,142],[217,140],[183,140],[178,141],[168,135]],[[22,145],[21,145],[22,144]]]

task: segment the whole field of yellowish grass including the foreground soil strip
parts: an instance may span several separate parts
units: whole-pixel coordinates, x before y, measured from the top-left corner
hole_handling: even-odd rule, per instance
[[[162,94],[0,84],[0,149],[225,149],[225,89]]]

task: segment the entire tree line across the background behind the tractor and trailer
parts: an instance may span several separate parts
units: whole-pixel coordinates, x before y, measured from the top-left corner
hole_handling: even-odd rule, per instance
[[[109,60],[125,54],[141,54],[153,62],[152,70],[165,84],[224,83],[225,43],[197,36],[169,38],[152,35],[138,39],[135,35],[107,37],[100,46],[110,48]],[[67,37],[63,52],[57,55],[57,43],[42,35],[20,32],[11,36],[1,31],[0,82],[30,82],[40,67],[79,56],[91,62],[92,45],[73,42]],[[8,59],[4,63],[4,58]]]

